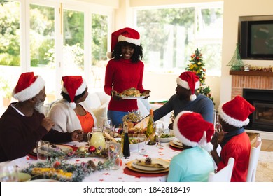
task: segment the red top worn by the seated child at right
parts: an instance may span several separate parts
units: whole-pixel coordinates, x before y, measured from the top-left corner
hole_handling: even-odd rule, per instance
[[[246,182],[248,171],[248,162],[251,151],[251,144],[246,132],[243,132],[228,141],[221,151],[222,161],[218,163],[218,171],[228,165],[230,157],[235,158],[233,172],[231,176],[232,182]]]

